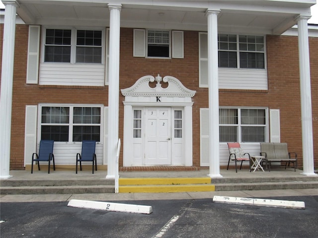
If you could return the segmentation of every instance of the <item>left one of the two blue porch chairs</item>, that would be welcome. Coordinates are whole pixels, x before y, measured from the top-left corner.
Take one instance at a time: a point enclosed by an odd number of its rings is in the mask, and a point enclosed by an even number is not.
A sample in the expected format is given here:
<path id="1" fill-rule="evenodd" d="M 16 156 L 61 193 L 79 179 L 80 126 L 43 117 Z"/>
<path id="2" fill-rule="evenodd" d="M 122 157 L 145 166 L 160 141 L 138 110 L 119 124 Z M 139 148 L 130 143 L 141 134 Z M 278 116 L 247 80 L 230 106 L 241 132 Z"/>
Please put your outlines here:
<path id="1" fill-rule="evenodd" d="M 49 162 L 48 174 L 50 174 L 50 164 L 51 164 L 51 160 L 53 160 L 53 169 L 55 170 L 53 146 L 54 146 L 54 140 L 41 140 L 40 141 L 39 154 L 37 154 L 37 153 L 32 154 L 31 174 L 33 174 L 33 162 L 34 161 L 37 162 L 39 171 L 40 171 L 40 161 Z"/>

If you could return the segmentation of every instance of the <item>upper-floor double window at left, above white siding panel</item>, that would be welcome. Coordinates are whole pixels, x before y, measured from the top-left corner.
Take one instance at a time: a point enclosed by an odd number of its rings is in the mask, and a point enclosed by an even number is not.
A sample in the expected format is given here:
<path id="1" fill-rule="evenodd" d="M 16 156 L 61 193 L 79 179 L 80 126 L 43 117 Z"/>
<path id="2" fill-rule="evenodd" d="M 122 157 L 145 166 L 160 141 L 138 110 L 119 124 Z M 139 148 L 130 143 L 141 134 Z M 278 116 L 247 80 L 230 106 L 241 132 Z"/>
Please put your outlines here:
<path id="1" fill-rule="evenodd" d="M 102 30 L 45 29 L 44 62 L 102 63 Z"/>

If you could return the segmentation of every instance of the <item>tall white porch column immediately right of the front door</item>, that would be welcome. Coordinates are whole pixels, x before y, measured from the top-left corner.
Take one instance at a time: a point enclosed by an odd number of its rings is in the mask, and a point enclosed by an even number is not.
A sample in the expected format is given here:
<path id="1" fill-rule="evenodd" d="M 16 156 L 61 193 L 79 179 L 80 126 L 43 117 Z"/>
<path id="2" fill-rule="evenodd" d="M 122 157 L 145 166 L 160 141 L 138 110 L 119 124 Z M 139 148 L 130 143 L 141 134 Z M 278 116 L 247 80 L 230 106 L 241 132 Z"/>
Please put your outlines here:
<path id="1" fill-rule="evenodd" d="M 210 123 L 210 178 L 220 175 L 219 145 L 219 67 L 218 67 L 218 14 L 207 10 L 208 16 L 208 81 Z"/>

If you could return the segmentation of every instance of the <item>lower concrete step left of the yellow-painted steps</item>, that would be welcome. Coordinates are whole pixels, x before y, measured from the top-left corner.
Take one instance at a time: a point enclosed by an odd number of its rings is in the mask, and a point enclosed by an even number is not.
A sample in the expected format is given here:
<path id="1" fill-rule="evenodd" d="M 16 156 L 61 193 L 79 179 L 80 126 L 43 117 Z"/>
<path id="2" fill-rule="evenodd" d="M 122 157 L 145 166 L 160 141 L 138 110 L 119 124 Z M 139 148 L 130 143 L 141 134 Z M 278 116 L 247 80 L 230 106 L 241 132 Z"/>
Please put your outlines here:
<path id="1" fill-rule="evenodd" d="M 1 194 L 114 193 L 113 185 L 1 186 Z"/>

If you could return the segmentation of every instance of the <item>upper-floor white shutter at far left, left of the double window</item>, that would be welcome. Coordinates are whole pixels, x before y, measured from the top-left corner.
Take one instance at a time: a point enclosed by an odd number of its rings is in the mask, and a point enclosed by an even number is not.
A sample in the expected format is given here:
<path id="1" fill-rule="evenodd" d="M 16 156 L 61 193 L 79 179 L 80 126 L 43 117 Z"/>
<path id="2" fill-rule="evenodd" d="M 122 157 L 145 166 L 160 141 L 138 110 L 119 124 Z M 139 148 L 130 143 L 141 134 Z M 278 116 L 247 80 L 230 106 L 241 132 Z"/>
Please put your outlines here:
<path id="1" fill-rule="evenodd" d="M 38 83 L 40 26 L 29 26 L 26 83 Z"/>

